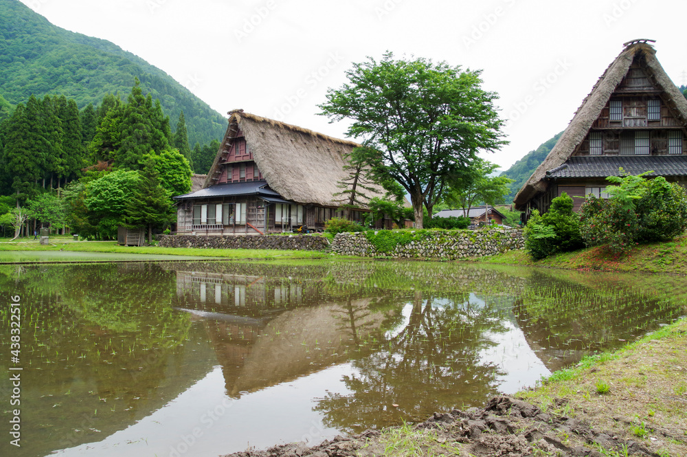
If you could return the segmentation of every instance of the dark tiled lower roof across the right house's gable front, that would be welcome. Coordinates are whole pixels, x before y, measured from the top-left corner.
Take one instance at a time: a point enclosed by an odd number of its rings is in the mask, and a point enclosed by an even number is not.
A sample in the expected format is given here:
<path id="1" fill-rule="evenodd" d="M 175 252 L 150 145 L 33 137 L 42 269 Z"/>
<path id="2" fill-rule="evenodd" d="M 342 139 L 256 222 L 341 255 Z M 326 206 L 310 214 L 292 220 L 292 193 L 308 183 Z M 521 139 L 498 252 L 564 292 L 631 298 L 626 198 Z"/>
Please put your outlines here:
<path id="1" fill-rule="evenodd" d="M 548 170 L 548 178 L 605 178 L 620 176 L 620 168 L 630 175 L 653 170 L 647 176 L 687 176 L 687 156 L 603 156 L 570 157 L 565 164 Z"/>

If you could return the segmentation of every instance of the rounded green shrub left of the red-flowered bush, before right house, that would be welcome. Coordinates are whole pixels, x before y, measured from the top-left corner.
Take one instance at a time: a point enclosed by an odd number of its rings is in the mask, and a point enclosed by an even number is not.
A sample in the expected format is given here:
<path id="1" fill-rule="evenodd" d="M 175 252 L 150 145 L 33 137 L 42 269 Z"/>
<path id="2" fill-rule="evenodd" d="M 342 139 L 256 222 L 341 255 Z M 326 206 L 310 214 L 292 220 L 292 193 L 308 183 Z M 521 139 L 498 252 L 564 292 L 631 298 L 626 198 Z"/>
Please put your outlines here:
<path id="1" fill-rule="evenodd" d="M 543 216 L 534 210 L 523 232 L 525 249 L 532 258 L 540 259 L 583 247 L 580 218 L 572 207 L 572 198 L 563 192 L 561 197 L 551 201 L 550 210 Z"/>

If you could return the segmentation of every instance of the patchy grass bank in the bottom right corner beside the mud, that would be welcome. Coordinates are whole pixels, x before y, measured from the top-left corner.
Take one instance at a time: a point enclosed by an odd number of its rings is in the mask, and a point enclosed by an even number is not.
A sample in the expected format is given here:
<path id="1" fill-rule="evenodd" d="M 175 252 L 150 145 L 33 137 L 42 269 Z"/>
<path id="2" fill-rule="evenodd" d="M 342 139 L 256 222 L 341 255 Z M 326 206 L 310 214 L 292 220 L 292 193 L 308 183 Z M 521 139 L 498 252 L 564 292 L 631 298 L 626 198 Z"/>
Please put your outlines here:
<path id="1" fill-rule="evenodd" d="M 660 456 L 687 455 L 687 320 L 587 357 L 518 397 Z"/>

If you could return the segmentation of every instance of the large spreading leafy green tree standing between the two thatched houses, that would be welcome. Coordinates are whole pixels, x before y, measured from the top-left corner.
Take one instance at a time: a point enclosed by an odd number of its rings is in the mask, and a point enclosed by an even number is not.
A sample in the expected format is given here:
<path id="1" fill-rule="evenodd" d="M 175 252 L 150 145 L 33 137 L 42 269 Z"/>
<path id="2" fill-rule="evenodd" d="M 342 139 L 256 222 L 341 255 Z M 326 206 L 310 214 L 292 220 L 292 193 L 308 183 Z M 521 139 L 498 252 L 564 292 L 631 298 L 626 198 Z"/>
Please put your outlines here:
<path id="1" fill-rule="evenodd" d="M 431 215 L 456 167 L 506 144 L 497 94 L 481 89 L 480 71 L 394 60 L 387 52 L 379 63 L 355 63 L 346 76 L 349 82 L 329 89 L 319 108 L 330 122 L 352 121 L 347 135 L 363 139 L 376 175 L 410 194 L 418 228 L 423 205 Z"/>

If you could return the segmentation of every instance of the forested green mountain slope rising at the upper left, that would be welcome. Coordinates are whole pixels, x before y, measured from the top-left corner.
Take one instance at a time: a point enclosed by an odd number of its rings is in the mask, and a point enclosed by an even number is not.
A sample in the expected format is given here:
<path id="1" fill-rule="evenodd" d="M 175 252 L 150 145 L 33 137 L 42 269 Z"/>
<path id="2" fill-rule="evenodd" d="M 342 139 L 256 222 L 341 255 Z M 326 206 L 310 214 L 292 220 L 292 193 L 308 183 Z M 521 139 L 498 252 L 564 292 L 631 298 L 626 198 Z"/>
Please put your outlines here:
<path id="1" fill-rule="evenodd" d="M 126 96 L 136 76 L 172 125 L 183 110 L 191 145 L 223 137 L 227 120 L 161 69 L 114 43 L 52 25 L 18 0 L 0 0 L 0 119 L 5 103 L 25 103 L 31 94 L 65 95 L 79 109 L 108 92 Z"/>

